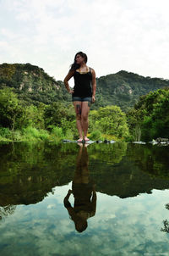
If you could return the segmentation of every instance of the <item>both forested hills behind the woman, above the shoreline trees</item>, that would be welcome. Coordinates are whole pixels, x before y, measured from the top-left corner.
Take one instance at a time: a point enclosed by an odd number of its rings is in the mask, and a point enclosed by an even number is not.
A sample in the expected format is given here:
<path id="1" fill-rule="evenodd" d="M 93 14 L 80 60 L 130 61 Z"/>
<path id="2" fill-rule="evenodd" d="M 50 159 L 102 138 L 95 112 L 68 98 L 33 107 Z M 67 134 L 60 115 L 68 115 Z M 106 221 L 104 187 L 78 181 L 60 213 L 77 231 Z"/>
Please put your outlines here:
<path id="1" fill-rule="evenodd" d="M 126 110 L 133 107 L 141 95 L 169 86 L 168 80 L 144 77 L 124 70 L 101 76 L 96 81 L 93 109 L 117 105 Z M 55 81 L 44 70 L 31 64 L 0 64 L 0 88 L 4 86 L 14 87 L 14 92 L 27 103 L 71 101 L 63 81 Z"/>

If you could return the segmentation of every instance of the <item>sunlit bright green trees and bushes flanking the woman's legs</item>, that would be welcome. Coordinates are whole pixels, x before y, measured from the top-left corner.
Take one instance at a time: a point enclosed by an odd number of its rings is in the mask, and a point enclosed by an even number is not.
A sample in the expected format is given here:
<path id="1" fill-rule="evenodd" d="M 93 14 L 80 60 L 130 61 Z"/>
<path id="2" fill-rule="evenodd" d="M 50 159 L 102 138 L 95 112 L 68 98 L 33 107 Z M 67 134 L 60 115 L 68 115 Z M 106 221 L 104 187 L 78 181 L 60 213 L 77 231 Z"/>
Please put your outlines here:
<path id="1" fill-rule="evenodd" d="M 25 105 L 11 88 L 0 90 L 0 140 L 54 141 L 78 137 L 74 106 L 52 103 Z M 90 112 L 90 139 L 124 139 L 128 136 L 126 115 L 117 106 Z"/>

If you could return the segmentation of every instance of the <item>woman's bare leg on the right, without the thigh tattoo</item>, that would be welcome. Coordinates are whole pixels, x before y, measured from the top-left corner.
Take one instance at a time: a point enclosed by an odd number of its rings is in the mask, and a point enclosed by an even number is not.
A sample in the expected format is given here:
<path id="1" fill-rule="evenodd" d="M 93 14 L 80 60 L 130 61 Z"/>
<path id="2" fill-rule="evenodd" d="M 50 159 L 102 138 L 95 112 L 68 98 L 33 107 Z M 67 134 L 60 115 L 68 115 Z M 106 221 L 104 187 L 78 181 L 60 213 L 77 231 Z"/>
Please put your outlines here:
<path id="1" fill-rule="evenodd" d="M 81 110 L 81 124 L 84 131 L 85 139 L 87 139 L 87 131 L 88 131 L 88 114 L 90 112 L 90 106 L 88 102 L 82 102 L 82 110 Z"/>

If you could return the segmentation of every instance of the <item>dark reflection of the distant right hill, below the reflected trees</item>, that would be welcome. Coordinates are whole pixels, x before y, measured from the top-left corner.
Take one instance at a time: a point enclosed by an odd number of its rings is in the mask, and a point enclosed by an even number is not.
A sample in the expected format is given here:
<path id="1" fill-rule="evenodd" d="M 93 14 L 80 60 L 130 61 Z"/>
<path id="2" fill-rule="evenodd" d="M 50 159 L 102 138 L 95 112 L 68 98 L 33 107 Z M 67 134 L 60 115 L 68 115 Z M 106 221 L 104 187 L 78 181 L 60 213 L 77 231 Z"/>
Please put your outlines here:
<path id="1" fill-rule="evenodd" d="M 100 164 L 102 169 L 104 166 Z M 97 169 L 99 172 L 99 168 Z M 101 170 L 102 172 L 102 170 Z M 139 170 L 134 164 L 125 158 L 120 164 L 106 166 L 106 170 L 100 177 L 94 176 L 97 191 L 119 198 L 137 196 L 139 193 L 150 193 L 152 189 L 169 189 L 169 181 L 152 178 L 149 174 Z"/>

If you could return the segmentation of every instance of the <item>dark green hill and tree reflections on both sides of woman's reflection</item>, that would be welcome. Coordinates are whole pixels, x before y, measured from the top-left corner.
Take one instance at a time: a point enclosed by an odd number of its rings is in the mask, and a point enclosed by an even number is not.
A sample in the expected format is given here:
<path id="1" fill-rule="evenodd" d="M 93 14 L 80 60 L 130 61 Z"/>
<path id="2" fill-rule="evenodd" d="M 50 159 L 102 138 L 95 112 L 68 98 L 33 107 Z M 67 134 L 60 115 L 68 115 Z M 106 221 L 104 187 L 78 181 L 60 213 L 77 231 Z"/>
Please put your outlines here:
<path id="1" fill-rule="evenodd" d="M 55 186 L 72 181 L 79 146 L 8 144 L 0 146 L 0 205 L 37 203 Z M 126 143 L 88 147 L 96 191 L 120 198 L 169 188 L 166 147 Z"/>

